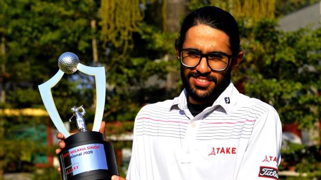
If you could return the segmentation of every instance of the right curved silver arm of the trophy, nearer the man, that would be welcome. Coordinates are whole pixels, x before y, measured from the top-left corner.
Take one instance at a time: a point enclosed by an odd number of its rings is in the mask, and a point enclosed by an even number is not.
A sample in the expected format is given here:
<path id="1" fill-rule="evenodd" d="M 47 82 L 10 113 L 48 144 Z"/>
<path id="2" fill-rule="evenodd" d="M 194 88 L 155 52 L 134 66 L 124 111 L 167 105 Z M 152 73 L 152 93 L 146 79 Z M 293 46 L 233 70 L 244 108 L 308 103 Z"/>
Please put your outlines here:
<path id="1" fill-rule="evenodd" d="M 100 124 L 102 121 L 103 110 L 105 106 L 105 96 L 106 96 L 106 75 L 105 67 L 90 67 L 85 66 L 81 63 L 77 65 L 78 71 L 95 76 L 96 84 L 96 112 L 93 125 L 93 131 L 99 132 Z"/>

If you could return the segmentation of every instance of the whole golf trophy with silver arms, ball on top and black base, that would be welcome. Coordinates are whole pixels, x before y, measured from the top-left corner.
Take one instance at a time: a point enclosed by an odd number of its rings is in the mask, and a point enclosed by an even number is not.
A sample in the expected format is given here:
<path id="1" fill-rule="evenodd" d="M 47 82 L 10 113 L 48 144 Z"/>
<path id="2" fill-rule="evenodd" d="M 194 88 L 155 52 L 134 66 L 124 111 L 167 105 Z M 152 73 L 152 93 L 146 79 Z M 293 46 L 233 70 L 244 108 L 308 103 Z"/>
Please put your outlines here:
<path id="1" fill-rule="evenodd" d="M 58 131 L 66 137 L 66 147 L 59 153 L 59 163 L 63 180 L 111 179 L 118 175 L 116 158 L 112 144 L 104 140 L 98 132 L 102 121 L 105 103 L 105 69 L 89 67 L 79 63 L 79 58 L 72 52 L 61 54 L 58 59 L 59 71 L 48 81 L 40 84 L 39 91 L 44 106 Z M 72 107 L 69 121 L 75 117 L 78 133 L 70 135 L 57 111 L 51 88 L 62 78 L 64 73 L 80 72 L 95 76 L 96 111 L 92 131 L 87 131 L 83 105 Z"/>

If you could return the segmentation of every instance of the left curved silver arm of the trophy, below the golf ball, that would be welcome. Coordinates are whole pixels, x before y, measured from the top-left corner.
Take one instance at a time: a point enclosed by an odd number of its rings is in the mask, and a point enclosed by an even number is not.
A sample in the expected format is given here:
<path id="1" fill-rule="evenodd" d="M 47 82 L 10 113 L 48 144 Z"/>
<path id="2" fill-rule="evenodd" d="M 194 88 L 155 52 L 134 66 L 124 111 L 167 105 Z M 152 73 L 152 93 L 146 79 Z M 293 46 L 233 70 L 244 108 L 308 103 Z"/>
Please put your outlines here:
<path id="1" fill-rule="evenodd" d="M 43 104 L 45 105 L 45 108 L 53 122 L 55 124 L 56 128 L 59 132 L 63 133 L 63 135 L 67 138 L 70 136 L 70 133 L 66 129 L 64 122 L 61 120 L 61 117 L 58 113 L 58 110 L 56 108 L 55 102 L 53 101 L 52 94 L 51 94 L 51 88 L 55 86 L 59 80 L 64 75 L 64 72 L 61 70 L 58 70 L 58 72 L 47 80 L 46 82 L 38 85 L 39 92 L 41 99 L 43 101 Z"/>

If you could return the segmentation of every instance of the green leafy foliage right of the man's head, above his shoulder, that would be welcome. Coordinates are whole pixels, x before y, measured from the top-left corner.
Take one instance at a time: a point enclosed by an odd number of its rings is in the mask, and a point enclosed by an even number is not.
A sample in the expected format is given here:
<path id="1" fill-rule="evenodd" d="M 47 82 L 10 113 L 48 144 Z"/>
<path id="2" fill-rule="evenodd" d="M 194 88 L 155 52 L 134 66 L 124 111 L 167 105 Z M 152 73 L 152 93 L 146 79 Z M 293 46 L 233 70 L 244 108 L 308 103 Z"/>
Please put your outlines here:
<path id="1" fill-rule="evenodd" d="M 273 105 L 282 123 L 313 127 L 320 116 L 320 29 L 284 33 L 276 21 L 262 19 L 241 25 L 241 32 L 251 32 L 242 38 L 246 55 L 238 75 L 246 94 Z"/>

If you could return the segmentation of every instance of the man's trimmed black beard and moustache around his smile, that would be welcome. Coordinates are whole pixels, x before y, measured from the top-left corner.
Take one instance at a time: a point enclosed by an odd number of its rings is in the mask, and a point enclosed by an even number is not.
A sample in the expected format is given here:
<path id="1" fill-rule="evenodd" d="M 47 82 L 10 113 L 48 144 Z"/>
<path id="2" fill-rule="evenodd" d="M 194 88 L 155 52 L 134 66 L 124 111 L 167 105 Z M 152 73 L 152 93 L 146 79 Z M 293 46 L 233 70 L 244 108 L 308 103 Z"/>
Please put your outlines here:
<path id="1" fill-rule="evenodd" d="M 222 73 L 222 78 L 217 79 L 216 76 L 211 76 L 208 74 L 199 74 L 195 72 L 190 72 L 187 75 L 184 74 L 184 70 L 186 68 L 181 65 L 180 67 L 180 76 L 183 82 L 183 85 L 188 92 L 188 96 L 190 96 L 193 100 L 199 101 L 199 102 L 211 102 L 213 103 L 226 89 L 226 87 L 230 84 L 231 81 L 231 68 L 228 67 L 226 70 Z M 191 77 L 206 77 L 209 81 L 213 81 L 215 83 L 215 86 L 212 88 L 202 88 L 198 86 L 192 86 L 190 84 L 189 79 Z M 204 91 L 203 94 L 197 93 L 197 89 L 202 89 Z"/>

